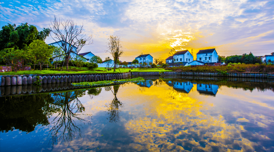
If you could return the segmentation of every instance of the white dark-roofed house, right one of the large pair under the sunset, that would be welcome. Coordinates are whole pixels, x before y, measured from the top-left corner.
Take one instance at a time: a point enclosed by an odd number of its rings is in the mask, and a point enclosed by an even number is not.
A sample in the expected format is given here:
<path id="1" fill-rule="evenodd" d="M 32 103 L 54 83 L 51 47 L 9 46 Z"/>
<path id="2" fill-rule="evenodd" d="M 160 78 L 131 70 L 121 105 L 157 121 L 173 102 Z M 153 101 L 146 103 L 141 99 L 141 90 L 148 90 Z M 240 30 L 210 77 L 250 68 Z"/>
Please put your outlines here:
<path id="1" fill-rule="evenodd" d="M 215 48 L 207 50 L 199 50 L 197 53 L 197 61 L 202 62 L 218 62 L 219 55 L 217 54 Z"/>

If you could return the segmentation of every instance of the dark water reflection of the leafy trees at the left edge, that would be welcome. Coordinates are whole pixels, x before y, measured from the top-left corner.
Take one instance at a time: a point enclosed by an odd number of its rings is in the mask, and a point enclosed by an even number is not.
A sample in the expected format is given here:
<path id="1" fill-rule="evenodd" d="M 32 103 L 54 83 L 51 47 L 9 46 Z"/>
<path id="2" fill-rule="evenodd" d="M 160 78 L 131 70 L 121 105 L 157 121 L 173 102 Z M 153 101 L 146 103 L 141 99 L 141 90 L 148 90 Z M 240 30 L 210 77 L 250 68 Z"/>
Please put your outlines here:
<path id="1" fill-rule="evenodd" d="M 0 131 L 14 129 L 30 133 L 37 125 L 49 125 L 48 118 L 58 111 L 51 94 L 0 97 Z"/>

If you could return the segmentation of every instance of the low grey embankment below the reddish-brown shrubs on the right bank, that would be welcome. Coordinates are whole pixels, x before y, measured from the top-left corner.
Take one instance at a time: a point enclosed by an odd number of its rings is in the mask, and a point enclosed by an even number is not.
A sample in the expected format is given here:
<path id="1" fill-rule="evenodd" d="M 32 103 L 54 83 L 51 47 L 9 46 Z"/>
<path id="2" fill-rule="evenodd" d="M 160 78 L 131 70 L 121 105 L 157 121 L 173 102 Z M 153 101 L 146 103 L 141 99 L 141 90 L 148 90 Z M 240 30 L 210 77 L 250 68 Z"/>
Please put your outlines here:
<path id="1" fill-rule="evenodd" d="M 220 72 L 164 72 L 165 75 L 268 78 L 267 73 L 220 73 Z"/>

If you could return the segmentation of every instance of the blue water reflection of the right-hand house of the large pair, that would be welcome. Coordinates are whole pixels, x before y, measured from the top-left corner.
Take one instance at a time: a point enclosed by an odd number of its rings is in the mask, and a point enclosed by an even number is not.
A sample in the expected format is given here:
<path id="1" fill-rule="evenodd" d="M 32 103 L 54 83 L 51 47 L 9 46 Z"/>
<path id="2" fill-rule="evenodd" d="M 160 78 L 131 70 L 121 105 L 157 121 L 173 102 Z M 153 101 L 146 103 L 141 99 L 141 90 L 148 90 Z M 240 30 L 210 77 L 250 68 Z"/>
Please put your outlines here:
<path id="1" fill-rule="evenodd" d="M 218 88 L 219 86 L 215 84 L 197 84 L 197 91 L 202 95 L 215 96 Z"/>

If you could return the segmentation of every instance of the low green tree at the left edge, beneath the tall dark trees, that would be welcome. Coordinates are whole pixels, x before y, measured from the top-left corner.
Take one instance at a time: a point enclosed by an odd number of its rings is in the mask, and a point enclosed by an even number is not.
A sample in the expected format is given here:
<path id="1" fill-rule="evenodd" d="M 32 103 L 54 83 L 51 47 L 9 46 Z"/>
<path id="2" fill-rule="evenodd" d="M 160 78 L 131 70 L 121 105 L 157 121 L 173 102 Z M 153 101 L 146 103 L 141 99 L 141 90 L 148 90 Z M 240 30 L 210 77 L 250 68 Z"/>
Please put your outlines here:
<path id="1" fill-rule="evenodd" d="M 27 50 L 6 48 L 0 51 L 0 60 L 11 65 L 12 69 L 17 72 L 24 65 L 30 63 L 32 54 Z"/>

